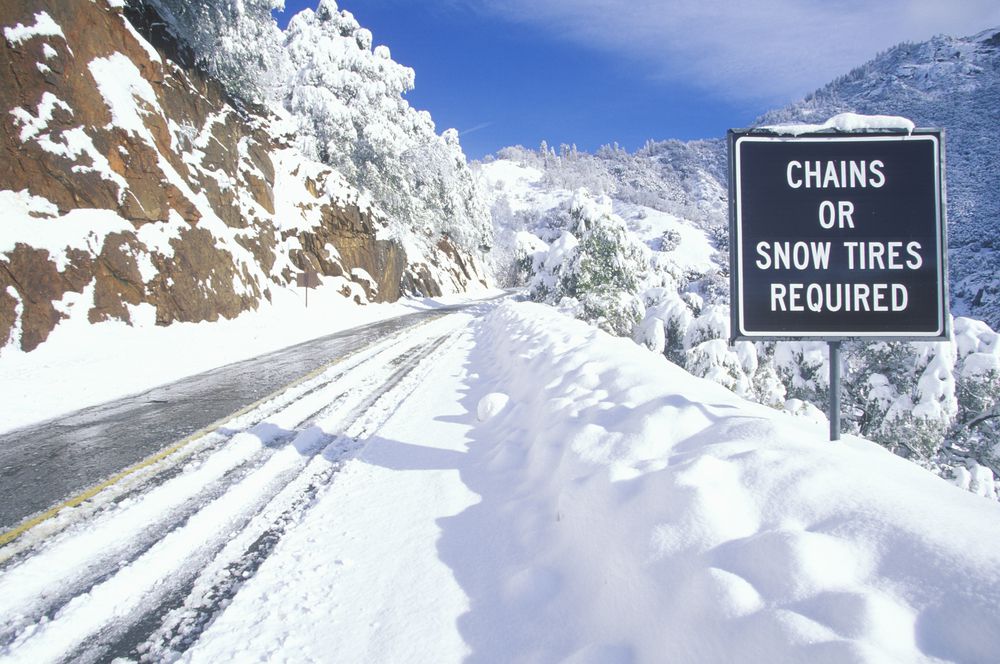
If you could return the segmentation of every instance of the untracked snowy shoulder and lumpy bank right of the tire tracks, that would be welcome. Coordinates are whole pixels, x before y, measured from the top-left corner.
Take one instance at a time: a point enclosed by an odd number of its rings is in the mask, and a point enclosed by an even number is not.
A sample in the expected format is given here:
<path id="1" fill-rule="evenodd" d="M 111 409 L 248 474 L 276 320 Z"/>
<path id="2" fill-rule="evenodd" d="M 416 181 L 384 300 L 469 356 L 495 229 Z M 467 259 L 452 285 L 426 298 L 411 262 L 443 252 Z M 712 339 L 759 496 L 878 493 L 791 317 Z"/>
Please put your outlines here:
<path id="1" fill-rule="evenodd" d="M 183 661 L 994 659 L 996 503 L 543 305 L 432 364 Z"/>

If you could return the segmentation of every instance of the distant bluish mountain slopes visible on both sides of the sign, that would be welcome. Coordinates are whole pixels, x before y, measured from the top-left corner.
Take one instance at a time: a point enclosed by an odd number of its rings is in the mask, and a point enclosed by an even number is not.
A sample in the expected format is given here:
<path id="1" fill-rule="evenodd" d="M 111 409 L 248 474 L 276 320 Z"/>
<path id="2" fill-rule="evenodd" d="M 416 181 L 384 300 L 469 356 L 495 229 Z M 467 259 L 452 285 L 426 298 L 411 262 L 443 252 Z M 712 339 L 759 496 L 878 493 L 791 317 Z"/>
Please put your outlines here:
<path id="1" fill-rule="evenodd" d="M 946 131 L 951 299 L 956 315 L 1000 327 L 1000 39 L 997 29 L 966 38 L 902 44 L 754 124 L 821 123 L 842 112 L 904 116 Z M 667 129 L 669 131 L 669 128 Z M 721 139 L 650 141 L 635 153 L 606 146 L 594 155 L 543 145 L 505 148 L 498 160 L 540 169 L 541 186 L 587 187 L 645 205 L 716 233 L 728 220 L 726 146 Z M 722 257 L 723 261 L 727 257 Z"/>

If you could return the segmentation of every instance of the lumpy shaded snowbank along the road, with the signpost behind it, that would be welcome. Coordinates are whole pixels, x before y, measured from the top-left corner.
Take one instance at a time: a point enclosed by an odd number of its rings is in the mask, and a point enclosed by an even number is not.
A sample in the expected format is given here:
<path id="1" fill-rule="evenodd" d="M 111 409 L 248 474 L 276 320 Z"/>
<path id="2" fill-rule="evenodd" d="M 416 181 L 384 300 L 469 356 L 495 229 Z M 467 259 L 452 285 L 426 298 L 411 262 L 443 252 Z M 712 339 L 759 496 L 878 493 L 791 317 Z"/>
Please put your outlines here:
<path id="1" fill-rule="evenodd" d="M 497 367 L 485 388 L 510 395 L 470 446 L 488 460 L 470 511 L 503 543 L 483 570 L 503 659 L 1000 651 L 997 504 L 542 305 L 500 306 L 479 347 Z M 472 641 L 500 627 L 472 609 Z"/>

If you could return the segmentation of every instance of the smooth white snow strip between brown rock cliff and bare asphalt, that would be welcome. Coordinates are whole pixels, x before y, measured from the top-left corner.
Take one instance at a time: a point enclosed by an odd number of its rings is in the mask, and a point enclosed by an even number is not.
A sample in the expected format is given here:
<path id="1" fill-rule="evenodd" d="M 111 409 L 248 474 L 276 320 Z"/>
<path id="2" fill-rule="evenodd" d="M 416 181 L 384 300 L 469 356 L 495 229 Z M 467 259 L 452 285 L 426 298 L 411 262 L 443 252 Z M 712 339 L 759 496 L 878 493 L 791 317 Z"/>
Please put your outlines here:
<path id="1" fill-rule="evenodd" d="M 151 320 L 92 325 L 87 307 L 72 307 L 49 339 L 30 353 L 0 350 L 0 433 L 257 357 L 347 328 L 447 304 L 496 295 L 400 300 L 357 306 L 334 288 L 274 288 L 273 302 L 215 323 Z"/>

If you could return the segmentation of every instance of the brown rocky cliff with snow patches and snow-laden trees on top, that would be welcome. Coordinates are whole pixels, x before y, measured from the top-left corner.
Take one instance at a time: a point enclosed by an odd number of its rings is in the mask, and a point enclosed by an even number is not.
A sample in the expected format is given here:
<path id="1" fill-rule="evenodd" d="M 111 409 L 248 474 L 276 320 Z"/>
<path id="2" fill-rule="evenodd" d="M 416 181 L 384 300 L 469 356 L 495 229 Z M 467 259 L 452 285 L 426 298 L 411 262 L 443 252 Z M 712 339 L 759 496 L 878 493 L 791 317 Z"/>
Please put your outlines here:
<path id="1" fill-rule="evenodd" d="M 332 0 L 287 34 L 273 6 L 3 4 L 4 353 L 81 312 L 232 319 L 302 271 L 358 304 L 488 284 L 486 209 L 454 132 L 402 99 L 412 70 Z"/>

